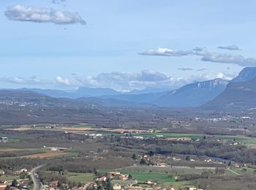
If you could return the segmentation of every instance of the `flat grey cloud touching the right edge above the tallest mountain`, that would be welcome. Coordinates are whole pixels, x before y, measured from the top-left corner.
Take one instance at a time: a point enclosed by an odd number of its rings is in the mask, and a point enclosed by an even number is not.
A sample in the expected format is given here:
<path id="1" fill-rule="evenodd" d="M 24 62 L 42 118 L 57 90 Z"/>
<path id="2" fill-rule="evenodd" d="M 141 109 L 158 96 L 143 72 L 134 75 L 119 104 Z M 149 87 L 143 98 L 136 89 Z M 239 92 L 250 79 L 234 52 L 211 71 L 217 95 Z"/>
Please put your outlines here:
<path id="1" fill-rule="evenodd" d="M 240 66 L 256 66 L 255 58 L 244 58 L 244 56 L 233 56 L 229 54 L 211 53 L 201 58 L 202 61 L 237 64 Z"/>

